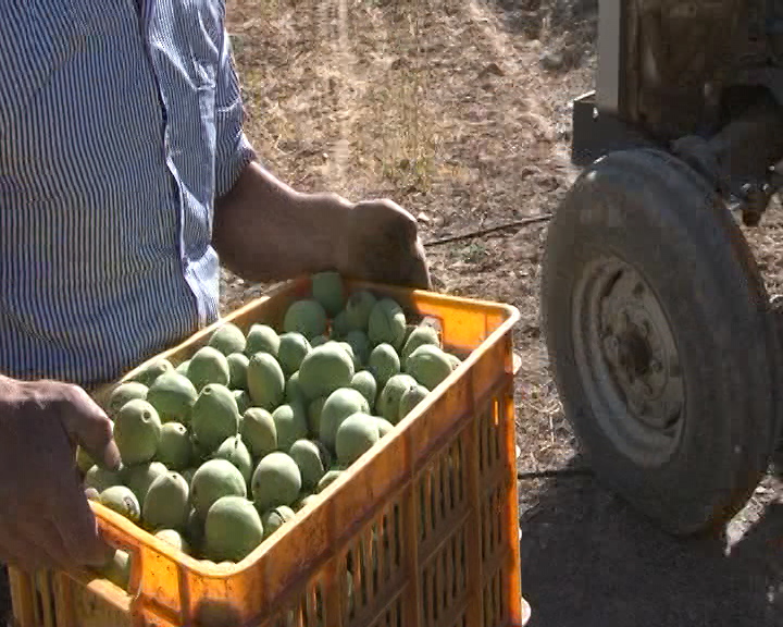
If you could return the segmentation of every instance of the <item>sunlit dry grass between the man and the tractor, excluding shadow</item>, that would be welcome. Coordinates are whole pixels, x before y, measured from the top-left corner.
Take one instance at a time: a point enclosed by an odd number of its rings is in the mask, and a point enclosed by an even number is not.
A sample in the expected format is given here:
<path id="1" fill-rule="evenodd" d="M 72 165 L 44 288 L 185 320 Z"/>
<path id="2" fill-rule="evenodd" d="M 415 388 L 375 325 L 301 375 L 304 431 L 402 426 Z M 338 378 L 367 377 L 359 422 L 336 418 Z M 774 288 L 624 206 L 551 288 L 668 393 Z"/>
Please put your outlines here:
<path id="1" fill-rule="evenodd" d="M 390 197 L 428 241 L 548 211 L 574 175 L 568 103 L 588 88 L 591 67 L 539 69 L 545 44 L 564 46 L 551 21 L 540 21 L 543 44 L 514 28 L 513 11 L 481 0 L 233 0 L 227 11 L 247 131 L 295 187 Z M 437 290 L 522 312 L 527 470 L 572 455 L 538 330 L 545 232 L 538 224 L 430 250 Z M 224 309 L 264 288 L 228 274 L 225 285 Z"/>

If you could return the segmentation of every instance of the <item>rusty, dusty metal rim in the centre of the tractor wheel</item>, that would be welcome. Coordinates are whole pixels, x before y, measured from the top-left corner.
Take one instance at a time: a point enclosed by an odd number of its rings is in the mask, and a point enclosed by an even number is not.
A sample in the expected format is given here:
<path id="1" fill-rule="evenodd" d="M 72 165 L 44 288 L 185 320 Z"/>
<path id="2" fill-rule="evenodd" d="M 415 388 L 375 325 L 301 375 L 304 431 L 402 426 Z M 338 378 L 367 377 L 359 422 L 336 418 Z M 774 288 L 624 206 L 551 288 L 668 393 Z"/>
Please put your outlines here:
<path id="1" fill-rule="evenodd" d="M 680 441 L 685 390 L 655 293 L 617 258 L 589 263 L 573 308 L 574 357 L 606 435 L 637 465 L 660 466 Z"/>

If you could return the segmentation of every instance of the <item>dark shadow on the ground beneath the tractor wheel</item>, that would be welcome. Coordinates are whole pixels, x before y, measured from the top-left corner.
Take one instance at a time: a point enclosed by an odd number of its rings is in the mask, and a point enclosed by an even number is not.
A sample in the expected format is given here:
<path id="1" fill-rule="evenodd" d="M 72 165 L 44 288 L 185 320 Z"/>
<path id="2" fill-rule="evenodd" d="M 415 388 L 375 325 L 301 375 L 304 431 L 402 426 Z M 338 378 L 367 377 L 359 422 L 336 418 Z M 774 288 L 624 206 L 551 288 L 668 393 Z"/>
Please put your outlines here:
<path id="1" fill-rule="evenodd" d="M 726 554 L 660 532 L 589 476 L 547 480 L 521 512 L 529 625 L 783 626 L 783 503 L 757 513 Z"/>

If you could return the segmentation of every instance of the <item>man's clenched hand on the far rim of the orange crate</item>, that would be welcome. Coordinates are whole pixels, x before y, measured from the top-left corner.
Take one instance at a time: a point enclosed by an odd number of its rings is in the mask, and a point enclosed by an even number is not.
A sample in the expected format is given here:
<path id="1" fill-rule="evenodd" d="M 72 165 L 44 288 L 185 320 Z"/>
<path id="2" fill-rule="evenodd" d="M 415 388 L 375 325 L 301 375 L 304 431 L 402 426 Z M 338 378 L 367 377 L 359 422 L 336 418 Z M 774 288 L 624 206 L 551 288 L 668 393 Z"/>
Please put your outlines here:
<path id="1" fill-rule="evenodd" d="M 335 253 L 337 269 L 346 276 L 432 288 L 417 221 L 391 200 L 355 204 Z"/>

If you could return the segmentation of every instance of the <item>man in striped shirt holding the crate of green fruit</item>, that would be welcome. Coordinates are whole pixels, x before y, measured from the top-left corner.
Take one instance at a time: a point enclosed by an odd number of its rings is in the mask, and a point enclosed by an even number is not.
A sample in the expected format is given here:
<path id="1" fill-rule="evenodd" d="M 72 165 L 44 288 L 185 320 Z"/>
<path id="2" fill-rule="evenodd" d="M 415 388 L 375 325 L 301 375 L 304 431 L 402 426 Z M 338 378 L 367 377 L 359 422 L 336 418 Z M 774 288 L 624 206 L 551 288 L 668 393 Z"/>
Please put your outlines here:
<path id="1" fill-rule="evenodd" d="M 222 0 L 25 0 L 0 21 L 0 562 L 103 560 L 74 467 L 120 462 L 86 390 L 323 269 L 430 286 L 390 201 L 297 193 L 243 133 Z"/>

